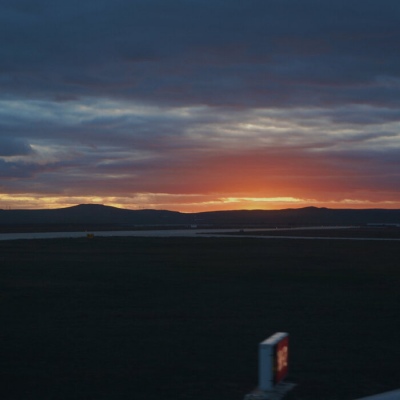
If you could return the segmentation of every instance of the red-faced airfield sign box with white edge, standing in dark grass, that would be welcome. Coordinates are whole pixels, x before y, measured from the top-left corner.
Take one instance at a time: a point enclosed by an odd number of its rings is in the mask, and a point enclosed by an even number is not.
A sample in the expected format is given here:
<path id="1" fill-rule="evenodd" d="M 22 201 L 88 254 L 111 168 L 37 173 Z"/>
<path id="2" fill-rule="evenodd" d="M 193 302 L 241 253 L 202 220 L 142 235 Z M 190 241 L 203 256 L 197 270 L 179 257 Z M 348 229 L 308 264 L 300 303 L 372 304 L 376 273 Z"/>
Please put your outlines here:
<path id="1" fill-rule="evenodd" d="M 259 346 L 259 389 L 269 391 L 288 373 L 289 335 L 278 332 Z"/>

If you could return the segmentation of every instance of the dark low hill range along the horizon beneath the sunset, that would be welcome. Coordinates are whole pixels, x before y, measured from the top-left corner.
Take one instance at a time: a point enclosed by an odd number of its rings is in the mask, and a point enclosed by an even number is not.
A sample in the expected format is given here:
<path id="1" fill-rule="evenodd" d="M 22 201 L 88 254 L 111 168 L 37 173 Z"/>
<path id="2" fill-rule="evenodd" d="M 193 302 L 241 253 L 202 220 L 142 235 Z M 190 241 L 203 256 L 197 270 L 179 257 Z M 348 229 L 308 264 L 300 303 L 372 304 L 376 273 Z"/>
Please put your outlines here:
<path id="1" fill-rule="evenodd" d="M 184 214 L 167 210 L 126 210 L 81 204 L 51 210 L 0 210 L 0 227 L 22 226 L 62 229 L 128 229 L 175 226 L 315 226 L 400 224 L 400 210 L 329 209 L 306 207 L 284 210 L 212 211 Z M 69 227 L 69 228 L 68 228 Z"/>

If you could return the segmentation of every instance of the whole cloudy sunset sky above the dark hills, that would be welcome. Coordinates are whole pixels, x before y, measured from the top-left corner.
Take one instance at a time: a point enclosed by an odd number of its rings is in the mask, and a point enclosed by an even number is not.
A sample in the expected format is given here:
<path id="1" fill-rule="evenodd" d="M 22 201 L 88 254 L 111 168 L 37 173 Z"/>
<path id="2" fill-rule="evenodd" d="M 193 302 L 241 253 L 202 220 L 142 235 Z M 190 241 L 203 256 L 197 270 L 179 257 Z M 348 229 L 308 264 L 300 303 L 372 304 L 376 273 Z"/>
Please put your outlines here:
<path id="1" fill-rule="evenodd" d="M 398 0 L 2 0 L 0 209 L 400 208 Z"/>

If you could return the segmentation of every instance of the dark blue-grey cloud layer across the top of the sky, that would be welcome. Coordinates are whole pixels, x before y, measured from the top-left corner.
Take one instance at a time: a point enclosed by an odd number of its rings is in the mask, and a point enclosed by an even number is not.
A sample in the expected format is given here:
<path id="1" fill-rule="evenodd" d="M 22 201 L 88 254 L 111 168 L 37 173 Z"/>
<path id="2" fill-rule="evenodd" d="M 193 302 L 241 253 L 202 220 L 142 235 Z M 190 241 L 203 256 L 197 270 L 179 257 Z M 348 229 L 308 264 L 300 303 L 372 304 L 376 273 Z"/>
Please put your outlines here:
<path id="1" fill-rule="evenodd" d="M 397 1 L 3 1 L 2 93 L 398 105 Z"/>

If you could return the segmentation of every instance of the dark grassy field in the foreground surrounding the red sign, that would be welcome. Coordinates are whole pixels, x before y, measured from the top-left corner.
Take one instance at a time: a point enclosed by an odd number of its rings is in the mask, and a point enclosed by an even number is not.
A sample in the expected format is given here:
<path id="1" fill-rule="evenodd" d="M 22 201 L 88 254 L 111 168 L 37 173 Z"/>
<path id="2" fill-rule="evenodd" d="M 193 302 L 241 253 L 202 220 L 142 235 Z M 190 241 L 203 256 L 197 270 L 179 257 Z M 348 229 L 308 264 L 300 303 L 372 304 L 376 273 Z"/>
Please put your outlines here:
<path id="1" fill-rule="evenodd" d="M 234 400 L 290 334 L 292 399 L 400 387 L 398 242 L 0 242 L 2 400 Z"/>

